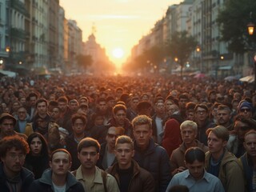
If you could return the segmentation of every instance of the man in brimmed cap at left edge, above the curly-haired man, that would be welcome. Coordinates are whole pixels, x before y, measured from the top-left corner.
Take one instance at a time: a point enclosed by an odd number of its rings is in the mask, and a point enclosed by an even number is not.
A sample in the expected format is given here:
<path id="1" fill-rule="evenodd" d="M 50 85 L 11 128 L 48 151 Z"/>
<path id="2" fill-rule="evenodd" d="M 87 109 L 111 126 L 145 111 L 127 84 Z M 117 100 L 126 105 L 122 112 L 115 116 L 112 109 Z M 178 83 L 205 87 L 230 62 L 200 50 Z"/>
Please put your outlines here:
<path id="1" fill-rule="evenodd" d="M 14 131 L 14 126 L 16 124 L 16 119 L 10 115 L 3 113 L 0 116 L 0 140 L 5 138 L 6 136 L 11 136 L 14 134 L 18 134 L 22 138 L 27 138 L 26 134 L 20 134 Z"/>

